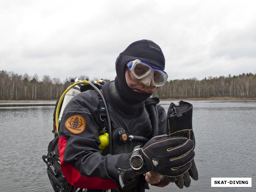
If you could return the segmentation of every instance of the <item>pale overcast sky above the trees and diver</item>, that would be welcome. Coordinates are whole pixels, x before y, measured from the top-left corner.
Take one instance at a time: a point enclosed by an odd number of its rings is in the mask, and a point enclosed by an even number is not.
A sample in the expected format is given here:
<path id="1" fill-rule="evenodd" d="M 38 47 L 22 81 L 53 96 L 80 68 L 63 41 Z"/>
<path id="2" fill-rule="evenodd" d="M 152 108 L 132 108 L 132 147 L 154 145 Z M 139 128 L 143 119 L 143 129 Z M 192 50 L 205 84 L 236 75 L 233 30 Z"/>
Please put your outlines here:
<path id="1" fill-rule="evenodd" d="M 0 70 L 114 80 L 129 44 L 164 52 L 169 80 L 256 73 L 254 0 L 1 0 Z"/>

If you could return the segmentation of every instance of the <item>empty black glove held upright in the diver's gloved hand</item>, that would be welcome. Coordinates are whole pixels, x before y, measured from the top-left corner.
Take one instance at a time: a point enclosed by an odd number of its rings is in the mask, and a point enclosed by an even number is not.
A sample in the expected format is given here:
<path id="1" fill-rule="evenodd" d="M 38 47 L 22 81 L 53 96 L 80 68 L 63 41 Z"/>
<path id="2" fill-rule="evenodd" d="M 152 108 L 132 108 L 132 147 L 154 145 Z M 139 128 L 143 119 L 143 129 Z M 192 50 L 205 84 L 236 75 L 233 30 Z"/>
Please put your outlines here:
<path id="1" fill-rule="evenodd" d="M 178 106 L 171 103 L 167 112 L 167 124 L 170 136 L 191 139 L 194 142 L 195 148 L 195 136 L 192 129 L 192 111 L 193 106 L 188 102 L 180 101 Z M 198 180 L 198 172 L 194 159 L 191 161 L 191 167 L 188 172 L 176 177 L 176 180 L 172 178 L 171 181 L 174 181 L 179 188 L 183 188 L 183 186 L 189 187 L 191 182 L 189 176 L 194 180 Z"/>

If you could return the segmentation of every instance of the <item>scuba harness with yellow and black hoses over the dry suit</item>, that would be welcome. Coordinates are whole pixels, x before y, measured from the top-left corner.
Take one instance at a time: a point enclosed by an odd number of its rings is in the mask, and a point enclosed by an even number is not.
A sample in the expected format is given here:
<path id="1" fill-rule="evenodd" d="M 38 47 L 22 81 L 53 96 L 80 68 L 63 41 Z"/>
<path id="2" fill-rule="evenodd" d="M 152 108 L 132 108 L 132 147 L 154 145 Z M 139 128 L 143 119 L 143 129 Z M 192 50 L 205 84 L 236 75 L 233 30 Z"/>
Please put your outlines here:
<path id="1" fill-rule="evenodd" d="M 71 80 L 72 81 L 72 80 Z M 69 90 L 79 89 L 80 92 L 84 92 L 87 90 L 93 90 L 97 96 L 99 97 L 100 105 L 98 108 L 99 111 L 99 119 L 101 124 L 101 129 L 99 130 L 99 137 L 101 144 L 99 145 L 100 152 L 102 152 L 108 146 L 108 154 L 112 154 L 112 141 L 111 141 L 111 124 L 110 124 L 110 116 L 108 113 L 107 104 L 103 95 L 103 92 L 100 90 L 102 84 L 92 83 L 89 81 L 80 81 L 76 79 L 76 83 L 69 86 L 68 89 L 62 94 L 60 100 L 56 102 L 55 110 L 54 110 L 54 117 L 53 117 L 53 131 L 54 132 L 54 139 L 50 141 L 48 145 L 48 154 L 47 156 L 43 155 L 42 158 L 47 165 L 47 174 L 49 180 L 52 184 L 52 188 L 54 191 L 60 192 L 78 192 L 78 191 L 86 191 L 86 189 L 76 188 L 68 183 L 63 175 L 61 168 L 60 168 L 60 156 L 59 156 L 59 115 L 60 115 L 60 108 L 64 108 L 63 99 L 65 95 L 68 93 Z M 74 80 L 72 81 L 74 82 Z M 84 85 L 81 85 L 84 84 Z M 76 85 L 80 85 L 80 88 L 75 87 Z M 156 104 L 159 103 L 158 98 L 148 98 L 145 101 L 145 107 L 149 113 L 150 121 L 152 124 L 152 136 L 158 135 L 158 114 L 157 114 L 157 107 Z M 67 103 L 66 103 L 67 104 Z M 143 142 L 147 142 L 148 138 L 136 135 L 129 135 L 129 133 L 124 130 L 120 129 L 116 132 L 116 142 L 120 145 L 126 143 L 128 140 L 140 140 Z M 110 138 L 110 139 L 108 139 Z"/>

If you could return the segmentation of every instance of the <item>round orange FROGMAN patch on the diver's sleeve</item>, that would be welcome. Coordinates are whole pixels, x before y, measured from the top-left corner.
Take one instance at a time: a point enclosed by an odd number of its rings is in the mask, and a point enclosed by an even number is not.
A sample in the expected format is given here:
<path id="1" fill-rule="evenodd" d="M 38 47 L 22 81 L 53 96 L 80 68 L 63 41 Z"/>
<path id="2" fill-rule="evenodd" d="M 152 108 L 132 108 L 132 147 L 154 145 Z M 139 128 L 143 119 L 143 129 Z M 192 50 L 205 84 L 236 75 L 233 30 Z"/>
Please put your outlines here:
<path id="1" fill-rule="evenodd" d="M 84 117 L 80 115 L 73 115 L 67 119 L 65 126 L 71 133 L 79 134 L 84 131 L 86 121 Z"/>

